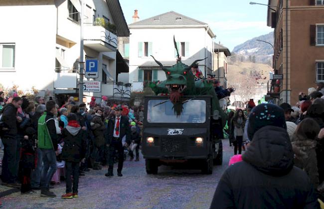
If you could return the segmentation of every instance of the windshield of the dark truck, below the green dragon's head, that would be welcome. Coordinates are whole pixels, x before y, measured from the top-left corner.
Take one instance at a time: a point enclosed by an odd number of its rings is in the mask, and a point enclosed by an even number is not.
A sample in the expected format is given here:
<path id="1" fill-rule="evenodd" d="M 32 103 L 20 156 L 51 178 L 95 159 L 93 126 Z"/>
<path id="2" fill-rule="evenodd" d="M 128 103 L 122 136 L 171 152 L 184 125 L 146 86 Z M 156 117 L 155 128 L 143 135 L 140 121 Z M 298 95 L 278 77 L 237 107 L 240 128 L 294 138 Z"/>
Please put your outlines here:
<path id="1" fill-rule="evenodd" d="M 148 102 L 147 121 L 149 123 L 204 123 L 206 121 L 206 101 L 187 100 L 183 111 L 177 116 L 169 100 L 150 100 Z"/>

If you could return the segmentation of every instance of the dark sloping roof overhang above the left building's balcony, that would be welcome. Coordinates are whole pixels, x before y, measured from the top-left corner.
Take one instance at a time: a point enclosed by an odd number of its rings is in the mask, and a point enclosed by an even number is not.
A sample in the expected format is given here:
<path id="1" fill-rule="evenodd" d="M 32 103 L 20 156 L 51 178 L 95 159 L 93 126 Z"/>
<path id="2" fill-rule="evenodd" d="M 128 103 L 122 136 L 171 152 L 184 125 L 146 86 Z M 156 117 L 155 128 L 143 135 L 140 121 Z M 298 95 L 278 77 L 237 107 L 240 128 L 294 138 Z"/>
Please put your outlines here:
<path id="1" fill-rule="evenodd" d="M 106 0 L 109 10 L 113 16 L 114 23 L 117 27 L 118 36 L 130 36 L 130 30 L 123 13 L 119 0 Z"/>

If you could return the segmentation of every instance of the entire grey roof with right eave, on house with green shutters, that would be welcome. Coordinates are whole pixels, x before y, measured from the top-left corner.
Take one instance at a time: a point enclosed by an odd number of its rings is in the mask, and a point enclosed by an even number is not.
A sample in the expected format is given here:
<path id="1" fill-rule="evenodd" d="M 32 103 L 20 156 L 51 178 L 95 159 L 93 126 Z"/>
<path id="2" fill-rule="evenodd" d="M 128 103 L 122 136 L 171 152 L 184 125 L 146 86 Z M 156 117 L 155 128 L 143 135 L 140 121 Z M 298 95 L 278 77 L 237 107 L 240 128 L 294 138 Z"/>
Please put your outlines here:
<path id="1" fill-rule="evenodd" d="M 168 11 L 141 21 L 137 21 L 128 25 L 129 28 L 167 28 L 167 27 L 187 27 L 187 28 L 201 28 L 208 29 L 208 34 L 214 37 L 215 34 L 208 27 L 208 24 L 175 11 Z"/>

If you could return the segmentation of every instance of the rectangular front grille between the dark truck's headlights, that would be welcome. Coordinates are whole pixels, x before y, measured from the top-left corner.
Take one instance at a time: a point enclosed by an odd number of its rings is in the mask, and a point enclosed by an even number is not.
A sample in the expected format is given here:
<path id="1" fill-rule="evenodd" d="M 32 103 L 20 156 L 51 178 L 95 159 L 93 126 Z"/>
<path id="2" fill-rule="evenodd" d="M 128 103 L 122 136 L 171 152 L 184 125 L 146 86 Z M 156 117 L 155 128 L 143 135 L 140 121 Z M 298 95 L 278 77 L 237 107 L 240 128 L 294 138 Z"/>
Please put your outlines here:
<path id="1" fill-rule="evenodd" d="M 161 140 L 161 151 L 163 153 L 178 153 L 187 151 L 187 140 L 181 138 L 163 138 Z"/>

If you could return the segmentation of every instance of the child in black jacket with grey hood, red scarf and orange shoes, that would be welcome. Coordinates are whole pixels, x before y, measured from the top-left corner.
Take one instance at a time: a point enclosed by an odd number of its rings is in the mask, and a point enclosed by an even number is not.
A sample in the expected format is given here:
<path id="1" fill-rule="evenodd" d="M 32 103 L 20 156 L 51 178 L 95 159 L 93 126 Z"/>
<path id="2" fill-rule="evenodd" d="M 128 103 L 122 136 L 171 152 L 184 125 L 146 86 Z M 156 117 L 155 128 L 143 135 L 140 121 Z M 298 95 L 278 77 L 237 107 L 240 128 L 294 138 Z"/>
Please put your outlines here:
<path id="1" fill-rule="evenodd" d="M 66 194 L 63 199 L 78 198 L 79 165 L 86 153 L 86 132 L 81 129 L 77 122 L 77 116 L 70 113 L 67 116 L 68 124 L 63 129 L 64 145 L 62 159 L 65 161 Z M 73 177 L 73 193 L 72 178 Z"/>

